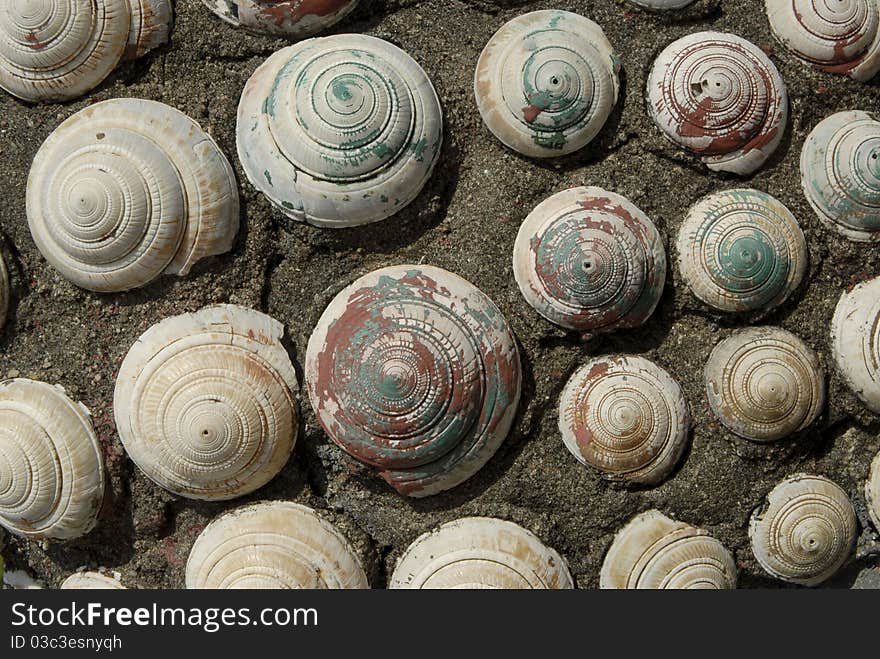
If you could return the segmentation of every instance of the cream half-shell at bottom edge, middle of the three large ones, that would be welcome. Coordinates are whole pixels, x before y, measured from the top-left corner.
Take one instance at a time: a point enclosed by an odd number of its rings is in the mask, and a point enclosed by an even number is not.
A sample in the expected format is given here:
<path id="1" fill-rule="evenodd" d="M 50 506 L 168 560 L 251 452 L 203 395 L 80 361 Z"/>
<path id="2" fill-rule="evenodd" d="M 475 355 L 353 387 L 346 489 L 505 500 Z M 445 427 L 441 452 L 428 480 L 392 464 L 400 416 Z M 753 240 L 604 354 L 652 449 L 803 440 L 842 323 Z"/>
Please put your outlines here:
<path id="1" fill-rule="evenodd" d="M 574 582 L 565 560 L 530 531 L 465 517 L 417 538 L 398 559 L 388 587 L 568 589 Z"/>

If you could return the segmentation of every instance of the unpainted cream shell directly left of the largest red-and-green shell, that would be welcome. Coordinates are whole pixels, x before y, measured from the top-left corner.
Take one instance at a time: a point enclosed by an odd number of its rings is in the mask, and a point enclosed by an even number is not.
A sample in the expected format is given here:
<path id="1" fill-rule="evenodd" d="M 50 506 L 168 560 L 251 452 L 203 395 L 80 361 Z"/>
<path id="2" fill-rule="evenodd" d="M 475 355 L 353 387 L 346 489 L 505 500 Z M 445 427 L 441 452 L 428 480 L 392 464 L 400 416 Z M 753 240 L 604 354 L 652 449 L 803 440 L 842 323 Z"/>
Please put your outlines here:
<path id="1" fill-rule="evenodd" d="M 119 437 L 167 490 L 223 500 L 268 483 L 290 457 L 298 414 L 284 327 L 233 305 L 166 318 L 132 346 L 116 380 Z"/>

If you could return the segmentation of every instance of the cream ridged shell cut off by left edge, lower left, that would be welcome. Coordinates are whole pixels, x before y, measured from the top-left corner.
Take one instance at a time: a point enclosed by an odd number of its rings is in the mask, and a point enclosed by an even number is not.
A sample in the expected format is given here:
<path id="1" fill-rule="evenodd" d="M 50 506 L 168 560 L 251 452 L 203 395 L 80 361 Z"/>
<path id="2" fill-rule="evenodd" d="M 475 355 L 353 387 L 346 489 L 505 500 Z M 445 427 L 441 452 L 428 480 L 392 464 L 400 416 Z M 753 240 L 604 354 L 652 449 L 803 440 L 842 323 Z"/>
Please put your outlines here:
<path id="1" fill-rule="evenodd" d="M 104 461 L 89 411 L 59 386 L 0 382 L 0 524 L 67 540 L 95 526 Z"/>

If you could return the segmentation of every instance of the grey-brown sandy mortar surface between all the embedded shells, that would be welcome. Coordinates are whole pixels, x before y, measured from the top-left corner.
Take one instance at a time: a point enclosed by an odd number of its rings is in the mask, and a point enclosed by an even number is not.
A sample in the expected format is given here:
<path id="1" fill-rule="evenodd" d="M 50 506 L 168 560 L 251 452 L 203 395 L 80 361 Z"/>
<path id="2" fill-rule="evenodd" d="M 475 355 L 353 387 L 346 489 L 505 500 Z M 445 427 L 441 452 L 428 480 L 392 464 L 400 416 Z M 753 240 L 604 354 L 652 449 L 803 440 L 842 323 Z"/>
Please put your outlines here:
<path id="1" fill-rule="evenodd" d="M 465 515 L 498 516 L 537 533 L 569 561 L 581 587 L 597 585 L 615 530 L 657 507 L 705 527 L 735 553 L 744 586 L 772 585 L 751 555 L 746 527 L 752 509 L 782 477 L 825 474 L 864 512 L 863 482 L 880 449 L 880 420 L 846 390 L 829 363 L 828 326 L 845 288 L 880 274 L 880 250 L 838 239 L 810 211 L 800 191 L 798 156 L 808 131 L 841 109 L 876 109 L 878 83 L 858 84 L 814 72 L 774 42 L 762 0 L 700 0 L 688 13 L 660 17 L 616 0 L 478 2 L 364 0 L 339 31 L 365 32 L 401 46 L 430 74 L 446 112 L 438 170 L 412 207 L 384 225 L 331 232 L 293 225 L 245 182 L 235 158 L 235 111 L 257 65 L 284 42 L 248 36 L 216 20 L 197 0 L 178 0 L 172 43 L 120 68 L 88 98 L 30 107 L 0 95 L 0 249 L 15 285 L 14 312 L 0 338 L 0 376 L 63 384 L 94 414 L 110 473 L 98 528 L 78 541 L 40 545 L 10 539 L 10 567 L 48 585 L 80 566 L 122 572 L 129 585 L 181 587 L 195 535 L 213 517 L 250 500 L 289 498 L 323 509 L 364 552 L 381 587 L 400 552 L 417 535 Z M 492 33 L 517 13 L 561 8 L 602 25 L 623 60 L 626 84 L 618 112 L 594 145 L 558 162 L 534 162 L 505 150 L 483 127 L 472 95 L 477 57 Z M 746 184 L 776 195 L 801 221 L 810 246 L 807 283 L 763 318 L 718 318 L 688 294 L 678 274 L 643 330 L 584 342 L 554 329 L 523 301 L 511 271 L 517 229 L 546 196 L 573 185 L 599 185 L 625 195 L 652 217 L 668 244 L 690 204 L 743 181 L 708 173 L 667 145 L 644 103 L 647 71 L 667 43 L 686 33 L 735 32 L 767 50 L 792 98 L 792 119 L 779 154 Z M 199 121 L 235 163 L 244 230 L 231 254 L 200 265 L 183 280 L 145 290 L 96 295 L 76 289 L 47 266 L 28 233 L 25 184 L 30 162 L 60 121 L 85 105 L 117 96 L 151 98 Z M 268 486 L 244 500 L 202 504 L 152 485 L 125 457 L 112 421 L 113 381 L 129 345 L 159 319 L 215 302 L 261 309 L 283 321 L 301 363 L 311 328 L 328 300 L 357 275 L 392 263 L 448 268 L 477 284 L 507 315 L 525 368 L 516 430 L 495 458 L 457 490 L 409 501 L 369 477 L 353 476 L 328 443 L 304 401 L 304 427 L 294 457 Z M 766 322 L 800 336 L 822 356 L 830 404 L 804 436 L 772 446 L 736 439 L 709 413 L 702 367 L 711 348 L 735 327 Z M 556 430 L 556 400 L 567 376 L 590 355 L 644 354 L 682 383 L 696 420 L 693 446 L 676 475 L 660 487 L 627 491 L 580 467 Z M 864 515 L 862 515 L 864 518 Z M 864 530 L 861 556 L 875 546 Z M 877 584 L 876 563 L 856 561 L 837 585 Z M 867 568 L 857 579 L 859 570 Z M 873 578 L 873 582 L 871 582 Z"/>

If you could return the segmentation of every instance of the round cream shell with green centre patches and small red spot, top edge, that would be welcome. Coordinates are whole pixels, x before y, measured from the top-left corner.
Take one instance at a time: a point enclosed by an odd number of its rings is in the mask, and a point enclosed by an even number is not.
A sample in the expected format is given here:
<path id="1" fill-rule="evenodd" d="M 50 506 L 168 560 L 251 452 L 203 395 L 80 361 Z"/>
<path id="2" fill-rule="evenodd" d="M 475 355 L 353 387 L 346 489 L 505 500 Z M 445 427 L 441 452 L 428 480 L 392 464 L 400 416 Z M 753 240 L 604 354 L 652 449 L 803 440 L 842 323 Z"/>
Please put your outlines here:
<path id="1" fill-rule="evenodd" d="M 596 23 L 535 11 L 486 44 L 474 92 L 490 131 L 511 149 L 551 158 L 586 146 L 617 104 L 620 60 Z"/>

